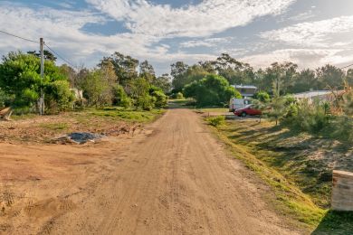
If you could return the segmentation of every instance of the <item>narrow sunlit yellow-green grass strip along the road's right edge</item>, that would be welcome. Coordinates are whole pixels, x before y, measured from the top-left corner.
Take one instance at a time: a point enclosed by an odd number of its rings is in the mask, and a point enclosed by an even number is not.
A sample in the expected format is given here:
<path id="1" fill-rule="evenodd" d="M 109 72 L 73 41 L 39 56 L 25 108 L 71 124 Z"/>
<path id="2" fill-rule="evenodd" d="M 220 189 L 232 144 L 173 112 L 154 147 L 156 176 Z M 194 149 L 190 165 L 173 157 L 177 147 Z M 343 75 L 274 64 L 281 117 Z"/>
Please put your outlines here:
<path id="1" fill-rule="evenodd" d="M 224 127 L 226 128 L 226 127 Z M 326 210 L 321 209 L 311 201 L 310 196 L 302 193 L 301 190 L 291 181 L 286 179 L 281 173 L 264 164 L 253 155 L 248 146 L 237 144 L 224 135 L 222 128 L 214 128 L 217 136 L 229 146 L 233 155 L 253 172 L 258 174 L 262 180 L 270 185 L 275 199 L 272 203 L 284 216 L 290 215 L 291 221 L 299 221 L 301 227 L 308 230 L 314 229 L 324 217 Z"/>

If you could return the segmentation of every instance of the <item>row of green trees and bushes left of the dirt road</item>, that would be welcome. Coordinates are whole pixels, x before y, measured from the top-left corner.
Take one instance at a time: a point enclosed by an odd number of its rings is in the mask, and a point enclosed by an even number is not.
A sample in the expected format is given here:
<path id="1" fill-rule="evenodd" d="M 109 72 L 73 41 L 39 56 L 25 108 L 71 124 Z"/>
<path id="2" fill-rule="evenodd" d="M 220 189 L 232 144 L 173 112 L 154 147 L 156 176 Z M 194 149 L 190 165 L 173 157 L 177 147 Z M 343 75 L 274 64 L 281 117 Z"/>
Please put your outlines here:
<path id="1" fill-rule="evenodd" d="M 36 112 L 41 92 L 46 112 L 72 109 L 73 105 L 117 105 L 145 110 L 167 105 L 171 88 L 168 75 L 157 76 L 148 61 L 119 52 L 102 58 L 93 69 L 74 70 L 56 65 L 56 57 L 44 52 L 44 77 L 40 76 L 38 52 L 9 52 L 0 63 L 0 108 Z M 82 90 L 83 99 L 74 89 Z"/>

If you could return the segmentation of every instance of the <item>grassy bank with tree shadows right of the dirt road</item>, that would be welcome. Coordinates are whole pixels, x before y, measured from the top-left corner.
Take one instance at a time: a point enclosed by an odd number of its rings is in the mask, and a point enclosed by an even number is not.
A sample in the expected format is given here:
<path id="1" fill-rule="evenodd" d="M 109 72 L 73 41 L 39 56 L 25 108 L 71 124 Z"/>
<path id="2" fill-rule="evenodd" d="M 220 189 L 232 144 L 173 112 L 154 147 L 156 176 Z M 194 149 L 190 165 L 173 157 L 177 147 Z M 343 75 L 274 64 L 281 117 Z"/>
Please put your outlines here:
<path id="1" fill-rule="evenodd" d="M 352 171 L 351 146 L 262 120 L 214 127 L 234 156 L 270 185 L 280 213 L 313 234 L 351 234 L 353 213 L 329 211 L 332 165 Z M 272 198 L 270 196 L 270 198 Z"/>

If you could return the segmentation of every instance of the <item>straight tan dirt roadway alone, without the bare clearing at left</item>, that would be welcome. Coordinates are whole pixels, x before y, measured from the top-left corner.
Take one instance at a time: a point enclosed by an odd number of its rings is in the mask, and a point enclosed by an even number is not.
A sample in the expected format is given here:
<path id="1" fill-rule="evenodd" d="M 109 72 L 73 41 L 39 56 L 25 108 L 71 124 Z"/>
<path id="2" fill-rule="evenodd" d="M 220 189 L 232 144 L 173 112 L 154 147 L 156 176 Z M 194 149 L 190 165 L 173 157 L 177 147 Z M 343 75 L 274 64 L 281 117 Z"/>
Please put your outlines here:
<path id="1" fill-rule="evenodd" d="M 171 109 L 52 223 L 57 234 L 296 234 L 201 119 Z M 260 186 L 259 186 L 260 185 Z M 79 200 L 76 200 L 79 201 Z"/>

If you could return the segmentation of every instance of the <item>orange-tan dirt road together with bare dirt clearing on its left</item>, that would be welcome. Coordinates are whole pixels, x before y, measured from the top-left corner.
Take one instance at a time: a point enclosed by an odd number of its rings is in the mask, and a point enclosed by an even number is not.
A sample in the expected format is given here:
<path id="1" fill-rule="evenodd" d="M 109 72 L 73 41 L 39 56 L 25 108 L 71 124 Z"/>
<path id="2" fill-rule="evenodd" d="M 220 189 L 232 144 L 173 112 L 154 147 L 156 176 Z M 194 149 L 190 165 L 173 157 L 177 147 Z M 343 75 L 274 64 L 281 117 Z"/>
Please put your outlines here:
<path id="1" fill-rule="evenodd" d="M 7 181 L 14 198 L 31 190 L 14 202 L 24 209 L 0 217 L 5 233 L 296 234 L 262 201 L 266 187 L 188 109 L 168 110 L 146 134 L 125 141 L 1 149 L 7 159 L 44 165 L 42 172 L 29 163 L 27 172 L 8 172 L 34 180 Z"/>

